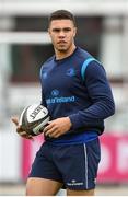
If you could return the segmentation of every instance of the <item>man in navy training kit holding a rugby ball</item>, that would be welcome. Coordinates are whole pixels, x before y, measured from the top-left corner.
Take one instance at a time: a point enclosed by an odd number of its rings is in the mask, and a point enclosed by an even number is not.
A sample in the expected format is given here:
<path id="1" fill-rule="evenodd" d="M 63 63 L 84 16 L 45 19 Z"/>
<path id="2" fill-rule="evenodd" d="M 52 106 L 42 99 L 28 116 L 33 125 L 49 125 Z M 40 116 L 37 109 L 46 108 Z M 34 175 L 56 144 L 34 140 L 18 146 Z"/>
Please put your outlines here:
<path id="1" fill-rule="evenodd" d="M 65 187 L 68 196 L 94 195 L 100 162 L 98 136 L 115 105 L 103 66 L 77 47 L 72 13 L 58 10 L 49 18 L 55 56 L 40 69 L 42 104 L 51 120 L 32 165 L 26 195 L 51 196 Z M 19 127 L 18 132 L 31 139 Z"/>

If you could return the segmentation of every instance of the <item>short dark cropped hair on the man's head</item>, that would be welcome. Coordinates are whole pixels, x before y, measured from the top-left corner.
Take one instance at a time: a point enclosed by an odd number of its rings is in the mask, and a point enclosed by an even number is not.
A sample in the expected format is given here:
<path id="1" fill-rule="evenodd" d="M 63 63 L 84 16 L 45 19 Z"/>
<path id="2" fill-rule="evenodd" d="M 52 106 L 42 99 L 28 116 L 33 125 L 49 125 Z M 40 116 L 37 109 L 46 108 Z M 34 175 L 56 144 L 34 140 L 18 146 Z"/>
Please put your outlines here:
<path id="1" fill-rule="evenodd" d="M 48 25 L 50 25 L 50 22 L 54 20 L 71 20 L 74 26 L 77 26 L 74 15 L 68 10 L 57 10 L 53 12 L 48 19 Z"/>

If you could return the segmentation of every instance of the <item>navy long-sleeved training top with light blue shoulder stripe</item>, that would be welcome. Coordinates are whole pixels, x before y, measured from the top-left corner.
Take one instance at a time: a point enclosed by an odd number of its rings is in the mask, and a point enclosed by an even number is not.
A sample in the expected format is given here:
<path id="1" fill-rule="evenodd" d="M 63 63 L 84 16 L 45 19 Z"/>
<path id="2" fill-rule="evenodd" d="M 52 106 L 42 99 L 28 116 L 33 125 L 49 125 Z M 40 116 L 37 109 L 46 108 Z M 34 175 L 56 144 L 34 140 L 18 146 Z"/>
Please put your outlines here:
<path id="1" fill-rule="evenodd" d="M 53 56 L 42 66 L 40 82 L 42 104 L 51 120 L 69 116 L 72 123 L 67 134 L 46 140 L 80 142 L 104 131 L 104 119 L 115 112 L 114 99 L 103 66 L 88 51 L 77 47 L 61 60 Z"/>

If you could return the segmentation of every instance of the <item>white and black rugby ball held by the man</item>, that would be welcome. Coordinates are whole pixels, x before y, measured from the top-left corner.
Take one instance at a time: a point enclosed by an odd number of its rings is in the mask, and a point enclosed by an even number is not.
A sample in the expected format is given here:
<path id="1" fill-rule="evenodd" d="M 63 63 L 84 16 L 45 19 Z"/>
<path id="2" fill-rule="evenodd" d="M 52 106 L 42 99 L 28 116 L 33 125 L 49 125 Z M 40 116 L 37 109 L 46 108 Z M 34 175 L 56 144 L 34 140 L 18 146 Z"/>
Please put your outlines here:
<path id="1" fill-rule="evenodd" d="M 48 109 L 38 104 L 32 104 L 25 107 L 20 116 L 19 125 L 26 134 L 38 136 L 49 121 Z"/>

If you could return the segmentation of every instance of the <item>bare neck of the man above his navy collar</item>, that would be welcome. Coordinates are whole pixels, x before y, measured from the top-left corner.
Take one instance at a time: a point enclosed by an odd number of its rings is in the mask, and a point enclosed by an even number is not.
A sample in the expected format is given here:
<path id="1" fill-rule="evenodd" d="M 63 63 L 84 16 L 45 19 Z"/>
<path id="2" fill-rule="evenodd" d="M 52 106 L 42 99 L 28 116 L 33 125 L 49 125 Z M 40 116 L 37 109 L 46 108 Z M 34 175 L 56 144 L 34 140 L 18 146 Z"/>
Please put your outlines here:
<path id="1" fill-rule="evenodd" d="M 70 56 L 71 54 L 73 54 L 74 50 L 75 50 L 74 44 L 68 50 L 59 51 L 59 50 L 55 49 L 56 59 L 57 60 L 63 59 L 63 58 Z"/>

